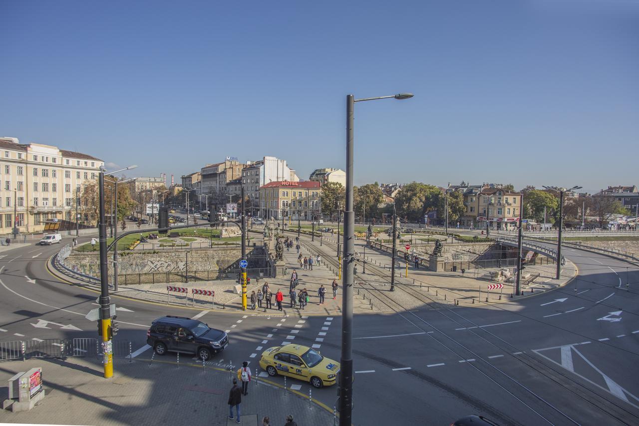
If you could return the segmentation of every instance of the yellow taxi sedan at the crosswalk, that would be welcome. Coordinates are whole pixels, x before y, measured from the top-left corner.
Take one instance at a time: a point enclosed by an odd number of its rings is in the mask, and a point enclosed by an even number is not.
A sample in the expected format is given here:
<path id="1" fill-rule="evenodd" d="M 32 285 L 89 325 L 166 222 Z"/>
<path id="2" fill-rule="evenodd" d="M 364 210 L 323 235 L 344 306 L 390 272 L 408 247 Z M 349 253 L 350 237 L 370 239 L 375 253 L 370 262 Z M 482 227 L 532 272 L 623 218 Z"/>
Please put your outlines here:
<path id="1" fill-rule="evenodd" d="M 268 375 L 288 375 L 321 388 L 335 384 L 340 366 L 337 361 L 321 356 L 315 349 L 289 344 L 270 347 L 262 352 L 259 367 L 266 370 Z"/>

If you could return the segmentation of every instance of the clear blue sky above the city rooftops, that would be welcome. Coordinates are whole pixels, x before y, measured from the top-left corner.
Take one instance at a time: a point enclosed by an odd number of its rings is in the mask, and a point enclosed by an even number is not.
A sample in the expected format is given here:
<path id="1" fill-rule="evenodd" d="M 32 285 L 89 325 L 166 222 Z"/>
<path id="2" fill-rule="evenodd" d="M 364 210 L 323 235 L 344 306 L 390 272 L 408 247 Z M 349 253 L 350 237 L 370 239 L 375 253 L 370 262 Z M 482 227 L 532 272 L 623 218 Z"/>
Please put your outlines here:
<path id="1" fill-rule="evenodd" d="M 176 178 L 639 184 L 639 0 L 0 0 L 0 136 Z"/>

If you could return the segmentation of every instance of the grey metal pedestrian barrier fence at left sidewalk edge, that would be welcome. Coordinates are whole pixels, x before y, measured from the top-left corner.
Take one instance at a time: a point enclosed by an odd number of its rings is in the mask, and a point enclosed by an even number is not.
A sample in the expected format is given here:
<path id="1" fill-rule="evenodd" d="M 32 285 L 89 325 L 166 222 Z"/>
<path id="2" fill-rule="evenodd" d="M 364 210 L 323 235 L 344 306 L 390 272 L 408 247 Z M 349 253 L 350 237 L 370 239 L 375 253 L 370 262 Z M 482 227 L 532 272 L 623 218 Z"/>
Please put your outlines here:
<path id="1" fill-rule="evenodd" d="M 95 356 L 102 358 L 101 340 L 97 338 L 12 340 L 0 342 L 0 361 L 22 361 L 33 358 L 67 358 Z M 131 342 L 125 339 L 111 341 L 113 356 L 131 359 Z"/>

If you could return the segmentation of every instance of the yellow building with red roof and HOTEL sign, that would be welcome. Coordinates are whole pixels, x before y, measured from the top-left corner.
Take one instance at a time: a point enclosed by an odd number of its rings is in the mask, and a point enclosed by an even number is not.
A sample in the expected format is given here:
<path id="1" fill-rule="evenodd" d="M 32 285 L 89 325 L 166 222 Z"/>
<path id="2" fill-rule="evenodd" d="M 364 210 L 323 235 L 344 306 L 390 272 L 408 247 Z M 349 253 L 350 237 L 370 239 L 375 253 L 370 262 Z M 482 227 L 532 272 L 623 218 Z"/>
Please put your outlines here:
<path id="1" fill-rule="evenodd" d="M 259 188 L 260 215 L 266 219 L 311 220 L 319 214 L 321 187 L 319 182 L 269 182 Z"/>

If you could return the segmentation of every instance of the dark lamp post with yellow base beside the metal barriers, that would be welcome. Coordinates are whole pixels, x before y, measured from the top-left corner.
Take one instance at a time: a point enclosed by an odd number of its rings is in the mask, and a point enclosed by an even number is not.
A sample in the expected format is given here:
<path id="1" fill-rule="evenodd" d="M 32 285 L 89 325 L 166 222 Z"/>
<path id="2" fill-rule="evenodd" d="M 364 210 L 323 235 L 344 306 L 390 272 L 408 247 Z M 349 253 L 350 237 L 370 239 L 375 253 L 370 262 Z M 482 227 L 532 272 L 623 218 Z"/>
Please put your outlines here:
<path id="1" fill-rule="evenodd" d="M 129 166 L 122 170 L 112 173 L 134 169 L 137 166 Z M 104 169 L 100 170 L 98 177 L 98 187 L 100 196 L 100 224 L 99 224 L 99 241 L 100 241 L 100 324 L 102 329 L 102 352 L 104 357 L 104 377 L 109 378 L 113 375 L 113 349 L 111 345 L 111 308 L 109 306 L 109 263 L 107 260 L 107 224 L 105 223 L 104 214 Z"/>

